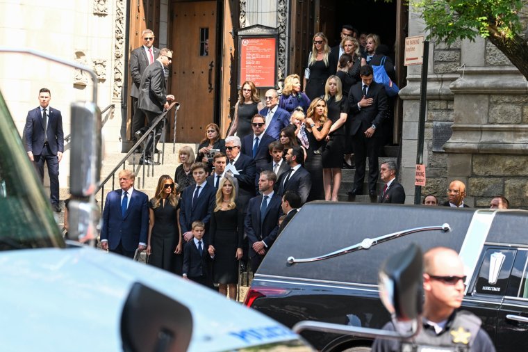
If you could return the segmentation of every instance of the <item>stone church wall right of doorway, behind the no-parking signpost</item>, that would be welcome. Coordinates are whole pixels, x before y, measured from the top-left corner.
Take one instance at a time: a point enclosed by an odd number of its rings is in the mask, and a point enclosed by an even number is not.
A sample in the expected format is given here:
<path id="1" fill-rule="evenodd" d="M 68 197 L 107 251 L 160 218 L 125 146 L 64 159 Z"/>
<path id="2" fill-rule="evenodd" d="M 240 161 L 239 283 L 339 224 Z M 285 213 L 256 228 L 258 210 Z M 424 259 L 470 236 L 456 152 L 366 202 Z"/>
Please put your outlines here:
<path id="1" fill-rule="evenodd" d="M 413 10 L 409 35 L 424 29 Z M 409 67 L 404 100 L 402 182 L 407 200 L 414 199 L 414 168 L 418 140 L 421 66 Z M 461 40 L 451 46 L 431 42 L 429 47 L 427 118 L 424 164 L 427 193 L 447 198 L 453 179 L 467 186 L 466 204 L 489 207 L 495 195 L 504 195 L 511 207 L 528 209 L 528 90 L 527 81 L 488 40 Z M 435 123 L 452 122 L 452 136 L 434 150 L 439 133 Z"/>

